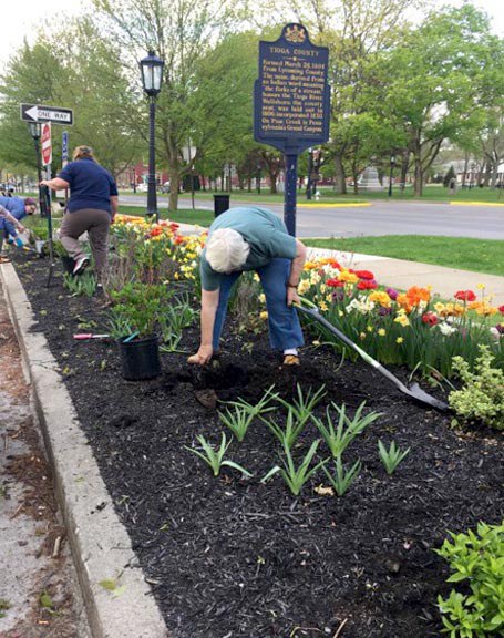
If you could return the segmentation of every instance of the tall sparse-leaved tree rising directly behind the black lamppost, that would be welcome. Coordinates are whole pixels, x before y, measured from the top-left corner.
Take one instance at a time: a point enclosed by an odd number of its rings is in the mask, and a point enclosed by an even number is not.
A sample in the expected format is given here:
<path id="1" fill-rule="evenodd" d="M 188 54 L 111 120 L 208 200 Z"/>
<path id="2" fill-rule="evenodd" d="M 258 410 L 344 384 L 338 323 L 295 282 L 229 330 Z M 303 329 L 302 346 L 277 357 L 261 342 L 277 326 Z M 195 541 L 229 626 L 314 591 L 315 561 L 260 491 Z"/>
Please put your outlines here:
<path id="1" fill-rule="evenodd" d="M 132 78 L 133 73 L 137 75 L 137 60 L 147 50 L 153 49 L 165 61 L 164 83 L 157 101 L 157 150 L 158 160 L 168 168 L 169 208 L 175 210 L 181 176 L 189 169 L 183 148 L 189 138 L 194 140 L 198 121 L 191 100 L 196 90 L 195 74 L 212 45 L 219 42 L 234 24 L 239 24 L 239 2 L 93 1 L 102 29 L 120 43 Z M 198 150 L 195 162 L 199 157 Z"/>

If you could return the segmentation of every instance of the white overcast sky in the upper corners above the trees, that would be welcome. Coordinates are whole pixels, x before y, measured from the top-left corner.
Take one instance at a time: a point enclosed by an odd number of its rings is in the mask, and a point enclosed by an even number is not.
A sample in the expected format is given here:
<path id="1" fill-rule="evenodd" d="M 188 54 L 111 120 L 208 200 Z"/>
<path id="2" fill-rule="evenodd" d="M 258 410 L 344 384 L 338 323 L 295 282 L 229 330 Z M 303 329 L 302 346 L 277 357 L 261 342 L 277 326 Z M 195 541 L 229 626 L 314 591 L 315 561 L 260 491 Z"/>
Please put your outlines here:
<path id="1" fill-rule="evenodd" d="M 461 6 L 463 0 L 432 0 L 434 6 Z M 504 37 L 504 0 L 473 0 L 476 7 L 491 17 L 493 31 Z M 3 0 L 0 38 L 0 69 L 13 50 L 19 49 L 24 37 L 30 41 L 34 31 L 43 27 L 47 18 L 61 20 L 64 16 L 75 16 L 85 11 L 89 0 Z"/>

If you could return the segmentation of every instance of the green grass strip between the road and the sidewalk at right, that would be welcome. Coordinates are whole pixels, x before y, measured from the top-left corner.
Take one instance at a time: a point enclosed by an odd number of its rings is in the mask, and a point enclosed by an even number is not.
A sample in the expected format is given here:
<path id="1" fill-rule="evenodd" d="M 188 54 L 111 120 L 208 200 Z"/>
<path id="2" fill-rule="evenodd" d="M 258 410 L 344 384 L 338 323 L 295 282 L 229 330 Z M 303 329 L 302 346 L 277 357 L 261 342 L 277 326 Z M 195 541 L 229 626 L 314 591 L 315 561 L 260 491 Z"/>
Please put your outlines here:
<path id="1" fill-rule="evenodd" d="M 349 239 L 305 239 L 307 246 L 379 255 L 409 261 L 504 276 L 504 240 L 385 235 Z"/>

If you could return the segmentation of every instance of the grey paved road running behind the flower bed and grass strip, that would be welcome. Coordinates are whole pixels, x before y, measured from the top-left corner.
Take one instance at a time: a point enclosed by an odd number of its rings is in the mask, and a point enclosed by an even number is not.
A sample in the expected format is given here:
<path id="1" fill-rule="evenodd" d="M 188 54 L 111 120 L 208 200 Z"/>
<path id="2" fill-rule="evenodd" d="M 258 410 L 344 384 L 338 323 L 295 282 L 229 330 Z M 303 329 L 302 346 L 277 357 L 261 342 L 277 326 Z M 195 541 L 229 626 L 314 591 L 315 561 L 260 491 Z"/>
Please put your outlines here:
<path id="1" fill-rule="evenodd" d="M 122 195 L 128 205 L 146 205 L 146 197 Z M 298 203 L 297 235 L 299 237 L 358 237 L 362 235 L 446 235 L 480 239 L 504 239 L 504 206 L 451 206 L 444 203 L 376 200 L 367 207 L 310 207 Z M 503 202 L 504 204 L 504 202 Z M 238 205 L 233 203 L 232 206 Z M 264 204 L 263 204 L 264 205 Z M 158 202 L 167 207 L 167 199 Z M 181 208 L 191 200 L 181 198 Z M 212 202 L 197 202 L 198 208 L 213 209 Z M 284 207 L 266 204 L 282 215 Z M 327 205 L 326 205 L 327 206 Z"/>

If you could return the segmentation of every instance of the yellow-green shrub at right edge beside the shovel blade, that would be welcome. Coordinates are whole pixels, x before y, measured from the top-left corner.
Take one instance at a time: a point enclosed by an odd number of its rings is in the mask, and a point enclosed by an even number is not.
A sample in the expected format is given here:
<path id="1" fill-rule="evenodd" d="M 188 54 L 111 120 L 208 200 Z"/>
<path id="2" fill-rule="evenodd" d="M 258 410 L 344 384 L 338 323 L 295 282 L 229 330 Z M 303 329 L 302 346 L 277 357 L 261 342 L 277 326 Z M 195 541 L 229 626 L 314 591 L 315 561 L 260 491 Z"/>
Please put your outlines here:
<path id="1" fill-rule="evenodd" d="M 504 430 L 504 372 L 492 368 L 493 354 L 480 346 L 474 372 L 462 357 L 453 358 L 453 368 L 463 382 L 461 390 L 450 392 L 450 407 L 463 419 L 477 419 L 497 430 Z"/>

